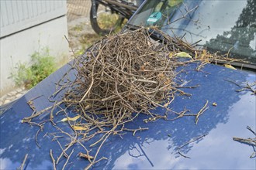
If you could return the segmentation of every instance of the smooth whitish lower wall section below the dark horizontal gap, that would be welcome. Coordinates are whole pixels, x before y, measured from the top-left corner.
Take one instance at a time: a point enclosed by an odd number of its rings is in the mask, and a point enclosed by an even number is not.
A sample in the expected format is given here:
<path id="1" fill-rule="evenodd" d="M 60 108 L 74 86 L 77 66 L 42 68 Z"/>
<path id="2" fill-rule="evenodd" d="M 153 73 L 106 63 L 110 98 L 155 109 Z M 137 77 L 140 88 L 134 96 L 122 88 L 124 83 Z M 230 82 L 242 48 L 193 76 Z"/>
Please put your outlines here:
<path id="1" fill-rule="evenodd" d="M 16 64 L 29 63 L 30 56 L 40 49 L 50 49 L 50 55 L 55 56 L 61 66 L 69 55 L 64 36 L 67 36 L 66 15 L 0 39 L 0 97 L 15 87 L 9 76 Z"/>

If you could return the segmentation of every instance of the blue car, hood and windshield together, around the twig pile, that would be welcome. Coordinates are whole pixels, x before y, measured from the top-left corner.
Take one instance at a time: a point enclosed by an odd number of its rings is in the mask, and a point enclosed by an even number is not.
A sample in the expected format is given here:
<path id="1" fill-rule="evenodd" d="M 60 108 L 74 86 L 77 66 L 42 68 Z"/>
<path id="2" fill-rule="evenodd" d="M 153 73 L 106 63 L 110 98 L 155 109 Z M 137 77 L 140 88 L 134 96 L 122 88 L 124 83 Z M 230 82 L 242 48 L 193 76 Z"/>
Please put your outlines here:
<path id="1" fill-rule="evenodd" d="M 195 71 L 196 63 L 180 66 L 182 89 L 191 96 L 178 96 L 168 106 L 177 112 L 207 109 L 196 117 L 173 121 L 159 119 L 145 123 L 140 115 L 127 127 L 148 128 L 122 135 L 111 135 L 102 145 L 92 169 L 256 169 L 256 2 L 255 0 L 161 0 L 144 1 L 123 31 L 141 26 L 157 27 L 169 36 L 182 37 L 198 49 L 228 54 L 237 62 L 208 63 Z M 152 39 L 162 41 L 160 33 Z M 239 59 L 244 59 L 239 61 Z M 247 62 L 245 62 L 247 61 Z M 14 103 L 2 107 L 0 169 L 84 169 L 90 162 L 81 156 L 85 148 L 71 142 L 73 131 L 64 117 L 54 117 L 60 133 L 49 121 L 24 124 L 33 110 L 43 110 L 57 83 L 70 68 L 63 66 Z M 235 70 L 236 69 L 236 70 Z M 58 94 L 61 97 L 61 93 Z M 69 110 L 72 114 L 71 110 Z M 157 107 L 152 113 L 164 114 Z M 41 121 L 49 115 L 41 115 Z M 71 135 L 71 136 L 69 136 Z M 93 141 L 84 141 L 88 145 Z M 90 143 L 90 144 L 89 144 Z M 62 146 L 62 147 L 61 147 Z M 87 157 L 87 158 L 86 158 Z"/>

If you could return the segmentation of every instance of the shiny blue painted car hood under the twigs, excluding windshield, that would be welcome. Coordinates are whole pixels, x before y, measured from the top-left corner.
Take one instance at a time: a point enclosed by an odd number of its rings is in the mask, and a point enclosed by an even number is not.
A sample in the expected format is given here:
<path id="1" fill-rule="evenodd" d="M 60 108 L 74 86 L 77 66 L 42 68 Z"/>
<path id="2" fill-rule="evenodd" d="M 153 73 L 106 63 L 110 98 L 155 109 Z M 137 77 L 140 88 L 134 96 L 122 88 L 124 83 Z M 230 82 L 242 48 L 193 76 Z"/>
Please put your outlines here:
<path id="1" fill-rule="evenodd" d="M 1 141 L 0 141 L 0 161 L 1 169 L 16 169 L 22 164 L 23 158 L 28 154 L 26 169 L 53 169 L 50 158 L 50 149 L 53 150 L 54 158 L 61 154 L 61 148 L 57 141 L 52 141 L 51 132 L 57 132 L 52 124 L 44 124 L 43 131 L 37 136 L 37 147 L 35 141 L 36 132 L 40 130 L 37 126 L 22 124 L 23 117 L 32 114 L 26 102 L 33 97 L 37 110 L 50 106 L 48 97 L 54 93 L 57 80 L 67 71 L 68 65 L 54 74 L 47 77 L 40 84 L 26 93 L 25 96 L 16 101 L 9 110 L 6 110 L 0 117 L 1 120 Z M 186 87 L 199 85 L 194 89 L 184 88 L 186 93 L 192 96 L 175 97 L 173 103 L 168 107 L 175 111 L 182 111 L 185 108 L 191 113 L 198 113 L 202 106 L 209 100 L 209 109 L 199 117 L 198 124 L 195 124 L 195 117 L 182 117 L 175 121 L 157 120 L 155 122 L 144 123 L 145 115 L 140 115 L 127 128 L 149 128 L 147 131 L 138 131 L 135 136 L 132 133 L 123 134 L 123 138 L 118 135 L 111 136 L 98 158 L 106 157 L 93 168 L 97 169 L 255 169 L 255 158 L 249 158 L 254 151 L 249 145 L 233 141 L 233 137 L 254 138 L 251 131 L 246 127 L 256 128 L 255 104 L 256 99 L 250 91 L 236 92 L 240 87 L 227 80 L 234 80 L 241 84 L 256 80 L 255 73 L 247 73 L 239 70 L 230 70 L 223 66 L 207 64 L 201 72 L 192 70 L 196 64 L 180 67 L 178 70 L 186 70 L 179 74 L 178 80 L 182 80 Z M 227 79 L 227 80 L 225 80 Z M 190 81 L 192 80 L 192 81 Z M 61 98 L 61 93 L 59 93 Z M 212 104 L 217 104 L 214 107 Z M 157 108 L 152 110 L 156 114 L 164 114 L 165 110 Z M 70 113 L 72 114 L 72 113 Z M 170 117 L 175 115 L 170 114 Z M 60 121 L 64 115 L 54 117 L 54 121 Z M 41 121 L 49 118 L 49 115 L 40 117 Z M 58 122 L 57 126 L 72 134 L 67 123 Z M 178 154 L 178 147 L 187 141 L 197 138 L 202 134 L 207 134 L 199 141 L 194 141 L 181 148 L 184 158 Z M 61 145 L 70 142 L 70 138 L 63 135 L 59 138 Z M 94 139 L 97 140 L 97 139 Z M 93 141 L 85 143 L 85 146 Z M 79 152 L 85 150 L 80 145 L 74 145 L 67 151 L 71 159 L 67 164 L 67 169 L 82 169 L 88 165 L 88 161 L 78 157 Z M 95 153 L 95 152 L 94 152 Z M 92 152 L 92 155 L 93 152 Z M 66 158 L 61 158 L 57 168 L 62 168 Z"/>

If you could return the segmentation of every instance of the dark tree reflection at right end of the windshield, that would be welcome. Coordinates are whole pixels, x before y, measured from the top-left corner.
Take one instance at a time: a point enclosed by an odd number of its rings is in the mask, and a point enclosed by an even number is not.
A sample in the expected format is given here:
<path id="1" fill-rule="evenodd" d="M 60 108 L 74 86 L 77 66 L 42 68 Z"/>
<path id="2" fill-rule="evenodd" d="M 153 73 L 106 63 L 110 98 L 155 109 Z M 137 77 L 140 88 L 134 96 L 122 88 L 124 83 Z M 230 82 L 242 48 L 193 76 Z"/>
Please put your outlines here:
<path id="1" fill-rule="evenodd" d="M 233 58 L 246 56 L 251 63 L 256 63 L 256 3 L 248 0 L 235 26 L 230 31 L 217 35 L 215 39 L 206 42 L 206 47 L 221 51 L 230 50 Z"/>

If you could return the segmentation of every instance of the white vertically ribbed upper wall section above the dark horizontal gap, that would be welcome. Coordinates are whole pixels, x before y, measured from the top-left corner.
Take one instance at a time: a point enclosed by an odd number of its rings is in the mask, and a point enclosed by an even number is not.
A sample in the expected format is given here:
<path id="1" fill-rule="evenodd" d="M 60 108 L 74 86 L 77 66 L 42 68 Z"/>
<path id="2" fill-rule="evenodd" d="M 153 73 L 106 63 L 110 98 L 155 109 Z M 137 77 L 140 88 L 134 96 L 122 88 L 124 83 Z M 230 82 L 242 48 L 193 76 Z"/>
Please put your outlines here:
<path id="1" fill-rule="evenodd" d="M 1 37 L 66 13 L 65 0 L 1 0 Z"/>

